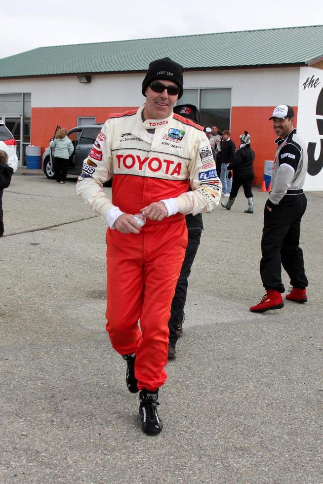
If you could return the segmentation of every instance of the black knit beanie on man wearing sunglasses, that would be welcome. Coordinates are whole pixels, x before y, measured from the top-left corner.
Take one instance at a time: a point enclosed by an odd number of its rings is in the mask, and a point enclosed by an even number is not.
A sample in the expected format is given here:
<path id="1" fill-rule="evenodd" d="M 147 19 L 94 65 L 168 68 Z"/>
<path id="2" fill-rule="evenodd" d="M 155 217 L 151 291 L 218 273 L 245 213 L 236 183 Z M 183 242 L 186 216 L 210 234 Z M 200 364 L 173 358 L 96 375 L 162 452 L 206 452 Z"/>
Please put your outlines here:
<path id="1" fill-rule="evenodd" d="M 182 66 L 176 62 L 169 59 L 169 57 L 164 57 L 163 59 L 157 59 L 149 64 L 148 71 L 146 73 L 145 79 L 142 81 L 142 93 L 144 96 L 145 91 L 149 84 L 156 81 L 157 79 L 165 79 L 168 81 L 173 81 L 179 87 L 178 99 L 183 95 L 183 72 Z"/>

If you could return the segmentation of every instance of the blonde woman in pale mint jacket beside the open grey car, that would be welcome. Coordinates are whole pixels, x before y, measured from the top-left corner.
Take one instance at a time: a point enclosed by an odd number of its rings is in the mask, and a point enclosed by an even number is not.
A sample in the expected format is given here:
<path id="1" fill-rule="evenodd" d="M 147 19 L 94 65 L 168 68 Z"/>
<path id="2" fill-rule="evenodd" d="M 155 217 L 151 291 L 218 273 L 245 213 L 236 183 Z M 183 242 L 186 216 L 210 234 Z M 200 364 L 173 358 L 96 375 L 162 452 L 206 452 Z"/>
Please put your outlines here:
<path id="1" fill-rule="evenodd" d="M 49 143 L 50 148 L 54 148 L 54 168 L 57 183 L 65 183 L 67 166 L 70 156 L 74 152 L 72 141 L 67 137 L 67 130 L 60 129 L 55 134 L 53 141 Z"/>

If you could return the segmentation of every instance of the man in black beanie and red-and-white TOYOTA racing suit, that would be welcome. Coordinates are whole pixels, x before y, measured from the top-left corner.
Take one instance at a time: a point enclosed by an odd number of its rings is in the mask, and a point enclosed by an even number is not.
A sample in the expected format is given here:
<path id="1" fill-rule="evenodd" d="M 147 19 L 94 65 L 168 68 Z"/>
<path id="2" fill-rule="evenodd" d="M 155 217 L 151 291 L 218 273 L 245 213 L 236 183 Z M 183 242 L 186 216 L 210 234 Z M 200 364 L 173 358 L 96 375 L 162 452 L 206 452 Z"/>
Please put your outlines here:
<path id="1" fill-rule="evenodd" d="M 142 86 L 146 103 L 109 116 L 77 184 L 78 195 L 109 224 L 106 329 L 127 362 L 129 391 L 140 391 L 147 434 L 162 429 L 157 399 L 167 377 L 167 322 L 187 245 L 185 214 L 209 212 L 221 196 L 202 127 L 172 111 L 183 93 L 182 73 L 168 57 L 150 63 Z M 110 201 L 102 184 L 112 172 Z M 142 228 L 138 212 L 146 216 Z"/>

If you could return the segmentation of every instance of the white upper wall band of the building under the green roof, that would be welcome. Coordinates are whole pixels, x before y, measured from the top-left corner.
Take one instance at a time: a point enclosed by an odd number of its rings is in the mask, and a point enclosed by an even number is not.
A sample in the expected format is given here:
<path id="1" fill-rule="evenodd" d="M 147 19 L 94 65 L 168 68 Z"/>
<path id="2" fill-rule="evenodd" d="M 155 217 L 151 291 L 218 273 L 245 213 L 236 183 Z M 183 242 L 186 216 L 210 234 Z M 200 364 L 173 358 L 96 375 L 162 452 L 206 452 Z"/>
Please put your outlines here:
<path id="1" fill-rule="evenodd" d="M 0 93 L 31 92 L 32 107 L 138 106 L 143 74 L 0 80 Z M 231 87 L 232 106 L 297 106 L 299 68 L 245 69 L 184 73 L 186 88 Z"/>

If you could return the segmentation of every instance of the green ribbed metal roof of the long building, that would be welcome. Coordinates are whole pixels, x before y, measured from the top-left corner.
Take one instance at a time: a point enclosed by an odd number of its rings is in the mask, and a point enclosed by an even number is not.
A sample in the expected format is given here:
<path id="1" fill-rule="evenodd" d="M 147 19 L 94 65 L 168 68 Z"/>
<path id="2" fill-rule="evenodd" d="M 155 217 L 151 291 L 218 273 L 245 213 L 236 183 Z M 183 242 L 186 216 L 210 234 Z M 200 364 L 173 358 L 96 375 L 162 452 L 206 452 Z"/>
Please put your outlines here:
<path id="1" fill-rule="evenodd" d="M 39 47 L 0 59 L 0 78 L 142 72 L 166 55 L 185 69 L 307 65 L 323 57 L 323 25 Z"/>

